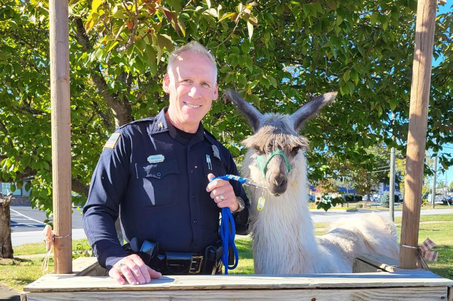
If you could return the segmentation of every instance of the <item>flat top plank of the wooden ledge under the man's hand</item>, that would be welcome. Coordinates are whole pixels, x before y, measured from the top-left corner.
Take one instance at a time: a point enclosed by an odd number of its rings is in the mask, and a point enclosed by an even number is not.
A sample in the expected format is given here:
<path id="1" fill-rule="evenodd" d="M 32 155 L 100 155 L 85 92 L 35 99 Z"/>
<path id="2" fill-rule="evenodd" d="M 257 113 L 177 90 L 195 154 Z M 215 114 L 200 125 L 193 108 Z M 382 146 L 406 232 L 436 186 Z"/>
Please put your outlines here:
<path id="1" fill-rule="evenodd" d="M 24 291 L 94 291 L 162 289 L 298 289 L 450 286 L 453 280 L 429 271 L 399 273 L 350 273 L 306 275 L 181 275 L 163 276 L 142 285 L 120 285 L 110 277 L 73 277 L 47 274 L 30 283 Z"/>

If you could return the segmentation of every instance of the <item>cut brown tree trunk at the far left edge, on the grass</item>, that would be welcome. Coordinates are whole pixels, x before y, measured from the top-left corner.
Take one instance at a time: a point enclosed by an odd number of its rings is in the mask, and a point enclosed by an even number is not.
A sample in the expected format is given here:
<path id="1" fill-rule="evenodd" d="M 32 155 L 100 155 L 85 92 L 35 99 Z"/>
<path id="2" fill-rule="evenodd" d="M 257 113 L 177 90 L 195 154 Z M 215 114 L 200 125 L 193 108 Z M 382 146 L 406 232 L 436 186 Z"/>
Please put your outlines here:
<path id="1" fill-rule="evenodd" d="M 0 192 L 0 258 L 13 258 L 10 203 L 11 194 L 4 196 Z"/>

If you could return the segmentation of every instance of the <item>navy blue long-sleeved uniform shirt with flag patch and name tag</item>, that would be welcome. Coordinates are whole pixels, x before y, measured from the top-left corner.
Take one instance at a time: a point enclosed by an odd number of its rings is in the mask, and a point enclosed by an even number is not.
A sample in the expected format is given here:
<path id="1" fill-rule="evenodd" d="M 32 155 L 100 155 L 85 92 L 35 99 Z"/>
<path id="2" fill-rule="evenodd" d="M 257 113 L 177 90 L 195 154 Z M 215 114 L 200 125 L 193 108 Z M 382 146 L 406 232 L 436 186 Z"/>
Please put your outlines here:
<path id="1" fill-rule="evenodd" d="M 94 171 L 84 228 L 107 269 L 127 255 L 114 226 L 119 211 L 125 239 L 136 237 L 139 246 L 148 240 L 159 242 L 164 251 L 204 253 L 219 239 L 221 210 L 206 191 L 207 174 L 238 175 L 236 164 L 201 123 L 189 141 L 181 137 L 167 122 L 166 109 L 156 118 L 118 128 Z M 246 203 L 246 209 L 234 214 L 237 233 L 246 234 L 250 203 L 242 185 L 231 184 Z"/>

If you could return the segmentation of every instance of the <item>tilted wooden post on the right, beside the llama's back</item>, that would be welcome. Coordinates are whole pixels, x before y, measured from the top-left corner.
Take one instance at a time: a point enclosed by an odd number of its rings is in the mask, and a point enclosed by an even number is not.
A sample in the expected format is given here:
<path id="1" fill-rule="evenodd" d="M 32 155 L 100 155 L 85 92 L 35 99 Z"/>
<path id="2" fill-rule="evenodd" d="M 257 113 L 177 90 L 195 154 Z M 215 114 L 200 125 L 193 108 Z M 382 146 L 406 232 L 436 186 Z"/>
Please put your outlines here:
<path id="1" fill-rule="evenodd" d="M 405 269 L 416 268 L 417 250 L 402 245 L 418 246 L 435 16 L 436 0 L 418 1 L 399 258 Z"/>

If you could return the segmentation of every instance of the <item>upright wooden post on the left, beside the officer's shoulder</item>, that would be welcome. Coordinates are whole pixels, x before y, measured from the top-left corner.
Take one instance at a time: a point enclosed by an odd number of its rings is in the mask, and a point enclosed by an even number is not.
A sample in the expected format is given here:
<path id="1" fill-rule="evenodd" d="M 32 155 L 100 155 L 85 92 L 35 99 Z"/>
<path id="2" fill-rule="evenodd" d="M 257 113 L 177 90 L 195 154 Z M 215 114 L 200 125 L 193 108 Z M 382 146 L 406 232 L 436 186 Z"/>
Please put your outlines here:
<path id="1" fill-rule="evenodd" d="M 49 20 L 54 270 L 68 274 L 72 272 L 72 222 L 67 0 L 49 1 Z"/>

